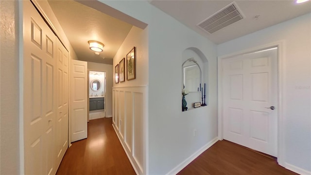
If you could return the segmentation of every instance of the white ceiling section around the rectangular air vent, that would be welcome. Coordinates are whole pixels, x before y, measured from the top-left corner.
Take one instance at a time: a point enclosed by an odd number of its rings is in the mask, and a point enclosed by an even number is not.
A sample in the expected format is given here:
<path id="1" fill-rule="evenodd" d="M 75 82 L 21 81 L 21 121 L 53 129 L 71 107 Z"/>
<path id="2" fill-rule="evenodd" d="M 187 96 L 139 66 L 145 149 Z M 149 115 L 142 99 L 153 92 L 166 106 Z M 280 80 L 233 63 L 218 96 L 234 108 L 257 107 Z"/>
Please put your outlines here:
<path id="1" fill-rule="evenodd" d="M 220 44 L 311 12 L 311 1 L 236 0 L 245 18 L 208 34 L 197 26 L 233 0 L 151 0 L 150 3 L 212 42 Z M 255 16 L 260 15 L 258 19 Z"/>

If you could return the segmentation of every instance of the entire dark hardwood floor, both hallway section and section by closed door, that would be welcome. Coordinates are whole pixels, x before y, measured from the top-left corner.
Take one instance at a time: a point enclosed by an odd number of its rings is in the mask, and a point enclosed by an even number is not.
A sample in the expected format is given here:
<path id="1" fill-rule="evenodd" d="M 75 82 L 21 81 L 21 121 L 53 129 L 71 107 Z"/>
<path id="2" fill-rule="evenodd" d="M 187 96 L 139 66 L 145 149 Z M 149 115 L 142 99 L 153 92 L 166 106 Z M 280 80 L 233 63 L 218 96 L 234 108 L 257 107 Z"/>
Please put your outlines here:
<path id="1" fill-rule="evenodd" d="M 112 127 L 91 120 L 88 138 L 72 143 L 56 175 L 136 175 Z M 230 141 L 217 141 L 178 175 L 297 175 L 276 160 Z"/>

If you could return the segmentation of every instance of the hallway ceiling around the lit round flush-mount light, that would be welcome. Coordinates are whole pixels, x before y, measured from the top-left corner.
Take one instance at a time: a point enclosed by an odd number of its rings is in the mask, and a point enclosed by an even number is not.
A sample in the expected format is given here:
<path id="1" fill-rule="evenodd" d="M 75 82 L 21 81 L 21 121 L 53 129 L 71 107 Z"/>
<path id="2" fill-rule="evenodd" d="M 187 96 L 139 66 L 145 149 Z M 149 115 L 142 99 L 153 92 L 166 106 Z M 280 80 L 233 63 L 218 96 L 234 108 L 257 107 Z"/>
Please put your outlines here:
<path id="1" fill-rule="evenodd" d="M 132 28 L 131 24 L 73 0 L 48 0 L 48 2 L 79 60 L 113 63 L 112 59 Z M 104 43 L 104 52 L 99 56 L 95 55 L 89 49 L 88 40 Z"/>

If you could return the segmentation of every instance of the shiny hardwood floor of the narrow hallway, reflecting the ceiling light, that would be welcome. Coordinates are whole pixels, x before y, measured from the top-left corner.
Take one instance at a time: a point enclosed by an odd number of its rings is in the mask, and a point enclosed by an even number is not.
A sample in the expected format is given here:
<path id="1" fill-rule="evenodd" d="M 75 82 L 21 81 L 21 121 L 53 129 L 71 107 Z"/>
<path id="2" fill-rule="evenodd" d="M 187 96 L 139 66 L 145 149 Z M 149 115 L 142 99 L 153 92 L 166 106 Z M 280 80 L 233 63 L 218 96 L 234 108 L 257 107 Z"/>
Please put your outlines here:
<path id="1" fill-rule="evenodd" d="M 90 120 L 88 138 L 67 150 L 56 175 L 136 175 L 112 127 L 112 118 Z"/>

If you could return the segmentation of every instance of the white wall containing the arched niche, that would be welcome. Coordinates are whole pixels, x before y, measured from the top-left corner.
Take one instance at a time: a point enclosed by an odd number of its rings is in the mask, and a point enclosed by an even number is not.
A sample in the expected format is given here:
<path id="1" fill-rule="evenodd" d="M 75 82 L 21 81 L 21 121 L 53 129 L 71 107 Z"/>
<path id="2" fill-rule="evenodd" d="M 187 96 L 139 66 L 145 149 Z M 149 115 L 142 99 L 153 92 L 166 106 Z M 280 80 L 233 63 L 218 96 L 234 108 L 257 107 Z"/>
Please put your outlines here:
<path id="1" fill-rule="evenodd" d="M 176 173 L 180 163 L 217 137 L 216 45 L 146 1 L 103 2 L 148 24 L 147 173 Z M 209 105 L 182 112 L 182 53 L 190 47 L 208 59 Z"/>

